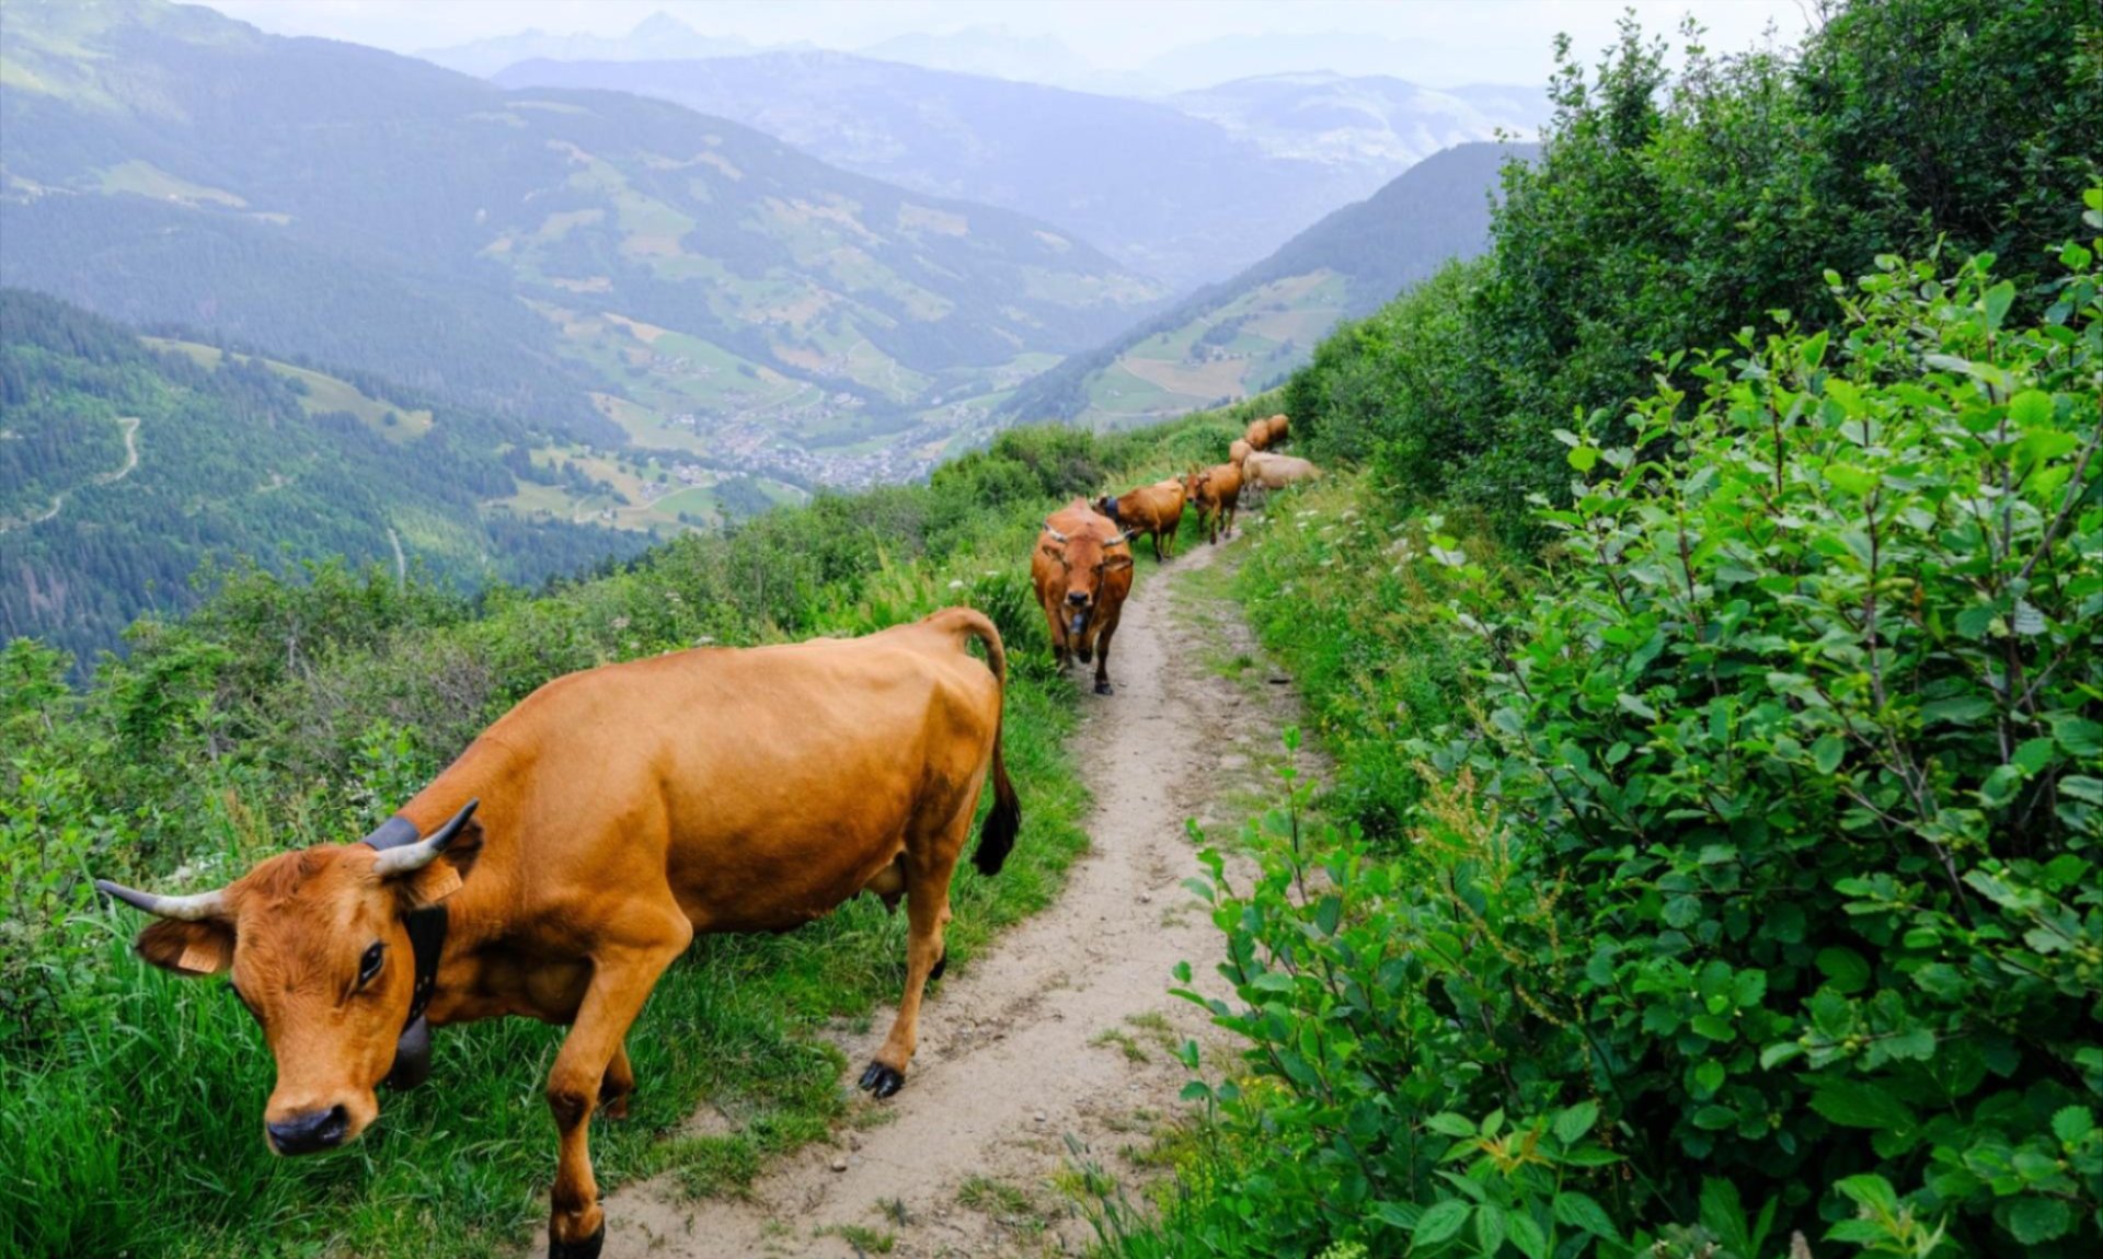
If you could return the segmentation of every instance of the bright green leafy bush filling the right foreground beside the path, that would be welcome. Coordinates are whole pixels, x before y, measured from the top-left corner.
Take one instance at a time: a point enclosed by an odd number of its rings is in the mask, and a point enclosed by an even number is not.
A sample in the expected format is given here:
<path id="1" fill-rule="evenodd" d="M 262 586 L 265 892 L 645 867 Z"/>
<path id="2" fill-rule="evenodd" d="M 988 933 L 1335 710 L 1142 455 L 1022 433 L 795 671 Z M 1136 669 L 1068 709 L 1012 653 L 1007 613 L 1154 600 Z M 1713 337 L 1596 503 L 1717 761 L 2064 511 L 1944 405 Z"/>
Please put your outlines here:
<path id="1" fill-rule="evenodd" d="M 1882 259 L 1840 330 L 1659 362 L 1565 435 L 1520 599 L 1436 528 L 1327 544 L 1354 607 L 1298 637 L 1422 635 L 1401 563 L 1487 668 L 1388 731 L 1398 853 L 1295 788 L 1253 887 L 1216 860 L 1247 1076 L 1161 1253 L 2103 1244 L 2103 284 L 2061 261 L 2029 319 L 1992 256 Z"/>

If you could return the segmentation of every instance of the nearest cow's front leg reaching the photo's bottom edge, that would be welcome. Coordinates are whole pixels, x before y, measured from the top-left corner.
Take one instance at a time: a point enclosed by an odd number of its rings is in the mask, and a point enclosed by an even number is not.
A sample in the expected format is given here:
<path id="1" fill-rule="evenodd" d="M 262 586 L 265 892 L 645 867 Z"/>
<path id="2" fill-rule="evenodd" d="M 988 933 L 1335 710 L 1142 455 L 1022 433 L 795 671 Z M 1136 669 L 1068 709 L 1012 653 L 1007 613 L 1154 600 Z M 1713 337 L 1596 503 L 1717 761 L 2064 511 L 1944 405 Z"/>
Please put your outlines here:
<path id="1" fill-rule="evenodd" d="M 547 1076 L 547 1108 L 555 1112 L 557 1133 L 555 1188 L 549 1192 L 547 1219 L 549 1259 L 597 1259 L 599 1246 L 606 1244 L 599 1181 L 591 1175 L 591 1110 L 658 975 L 694 937 L 694 927 L 683 914 L 667 910 L 667 916 L 658 942 L 618 944 L 593 956 L 591 988 L 585 990 L 576 1021 L 562 1043 L 562 1053 L 555 1055 L 555 1070 Z M 622 931 L 635 933 L 644 927 L 635 919 L 648 921 L 650 914 L 625 919 Z"/>

